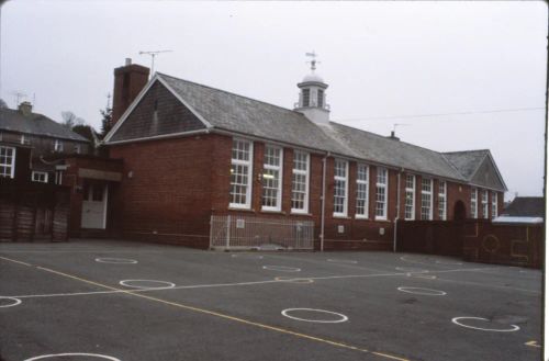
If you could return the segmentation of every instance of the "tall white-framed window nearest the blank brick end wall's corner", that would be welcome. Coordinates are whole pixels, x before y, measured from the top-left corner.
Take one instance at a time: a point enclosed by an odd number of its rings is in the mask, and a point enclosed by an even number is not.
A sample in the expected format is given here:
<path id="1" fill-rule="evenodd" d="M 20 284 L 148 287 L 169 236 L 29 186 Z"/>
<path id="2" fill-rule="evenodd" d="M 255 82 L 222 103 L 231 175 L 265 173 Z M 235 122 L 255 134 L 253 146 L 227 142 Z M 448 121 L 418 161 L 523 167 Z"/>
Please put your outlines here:
<path id="1" fill-rule="evenodd" d="M 231 202 L 229 207 L 251 207 L 251 165 L 254 144 L 249 140 L 233 139 L 231 156 Z"/>

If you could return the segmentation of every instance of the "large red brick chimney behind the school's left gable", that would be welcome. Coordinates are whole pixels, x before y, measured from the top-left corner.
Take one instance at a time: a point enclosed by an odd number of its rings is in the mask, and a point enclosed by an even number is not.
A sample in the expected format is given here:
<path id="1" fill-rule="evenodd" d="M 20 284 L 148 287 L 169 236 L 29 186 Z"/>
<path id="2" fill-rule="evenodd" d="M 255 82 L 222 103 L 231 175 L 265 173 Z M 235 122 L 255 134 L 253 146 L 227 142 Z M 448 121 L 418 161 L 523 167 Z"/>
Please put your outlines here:
<path id="1" fill-rule="evenodd" d="M 145 87 L 149 72 L 149 68 L 132 64 L 131 58 L 126 58 L 123 67 L 114 69 L 112 125 L 120 120 L 139 91 Z"/>

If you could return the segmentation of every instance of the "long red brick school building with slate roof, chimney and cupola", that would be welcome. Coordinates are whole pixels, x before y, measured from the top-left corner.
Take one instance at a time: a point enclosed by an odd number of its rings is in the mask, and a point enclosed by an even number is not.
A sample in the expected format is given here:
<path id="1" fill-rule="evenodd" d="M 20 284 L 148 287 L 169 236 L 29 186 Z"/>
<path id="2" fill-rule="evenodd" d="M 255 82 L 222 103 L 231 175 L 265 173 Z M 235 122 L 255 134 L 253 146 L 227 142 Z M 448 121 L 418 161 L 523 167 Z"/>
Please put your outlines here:
<path id="1" fill-rule="evenodd" d="M 104 139 L 122 173 L 104 184 L 109 226 L 198 248 L 392 249 L 399 221 L 501 214 L 506 185 L 490 150 L 439 153 L 338 124 L 314 70 L 298 88 L 284 109 L 148 80 L 126 60 Z"/>

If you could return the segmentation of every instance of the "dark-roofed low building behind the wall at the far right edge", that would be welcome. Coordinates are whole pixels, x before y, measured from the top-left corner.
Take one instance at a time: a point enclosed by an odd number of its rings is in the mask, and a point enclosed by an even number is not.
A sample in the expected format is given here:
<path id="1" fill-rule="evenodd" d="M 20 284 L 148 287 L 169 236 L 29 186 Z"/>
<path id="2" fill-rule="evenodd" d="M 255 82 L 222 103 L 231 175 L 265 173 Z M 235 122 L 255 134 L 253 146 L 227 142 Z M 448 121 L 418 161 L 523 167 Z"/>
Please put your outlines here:
<path id="1" fill-rule="evenodd" d="M 496 223 L 544 223 L 546 216 L 546 203 L 542 196 L 515 196 L 494 219 Z"/>

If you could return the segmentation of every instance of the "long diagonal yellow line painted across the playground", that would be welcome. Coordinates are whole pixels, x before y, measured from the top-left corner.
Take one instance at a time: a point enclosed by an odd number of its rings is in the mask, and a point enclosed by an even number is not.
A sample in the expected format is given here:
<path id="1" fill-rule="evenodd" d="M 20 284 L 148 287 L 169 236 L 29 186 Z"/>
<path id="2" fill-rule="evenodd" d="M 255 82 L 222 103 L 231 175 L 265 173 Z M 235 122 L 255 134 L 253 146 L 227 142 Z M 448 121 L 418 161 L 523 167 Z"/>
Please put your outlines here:
<path id="1" fill-rule="evenodd" d="M 146 300 L 159 302 L 159 303 L 163 303 L 163 304 L 166 304 L 166 305 L 170 305 L 170 306 L 175 306 L 175 307 L 179 307 L 179 308 L 183 308 L 183 309 L 188 309 L 188 311 L 193 311 L 193 312 L 197 312 L 197 313 L 202 313 L 202 314 L 206 314 L 206 315 L 211 315 L 211 316 L 216 316 L 216 317 L 220 317 L 220 318 L 224 318 L 224 319 L 233 320 L 233 321 L 245 324 L 245 325 L 249 325 L 249 326 L 255 326 L 255 327 L 268 329 L 268 330 L 271 330 L 271 331 L 277 331 L 277 332 L 280 332 L 280 334 L 295 336 L 298 338 L 304 338 L 304 339 L 307 339 L 307 340 L 317 341 L 317 342 L 322 342 L 322 343 L 335 346 L 335 347 L 347 349 L 347 350 L 354 350 L 354 351 L 359 351 L 359 352 L 365 352 L 365 353 L 372 353 L 372 354 L 376 354 L 376 356 L 379 356 L 379 357 L 383 357 L 383 358 L 388 358 L 388 359 L 392 359 L 392 360 L 411 361 L 408 359 L 402 359 L 402 358 L 399 358 L 399 357 L 395 357 L 395 356 L 391 356 L 391 354 L 386 354 L 386 353 L 368 351 L 365 348 L 360 348 L 360 347 L 356 347 L 356 346 L 343 343 L 343 342 L 339 342 L 339 341 L 333 341 L 333 340 L 328 340 L 328 339 L 316 337 L 316 336 L 311 336 L 311 335 L 306 335 L 306 334 L 301 334 L 301 332 L 292 331 L 292 330 L 289 330 L 289 329 L 285 329 L 285 328 L 281 328 L 281 327 L 269 326 L 269 325 L 266 325 L 266 324 L 260 324 L 260 323 L 247 320 L 247 319 L 244 319 L 244 318 L 225 315 L 225 314 L 217 313 L 217 312 L 214 312 L 214 311 L 209 311 L 209 309 L 204 309 L 204 308 L 188 306 L 188 305 L 183 305 L 183 304 L 177 303 L 177 302 L 166 301 L 166 300 L 161 300 L 161 298 L 148 296 L 148 295 L 141 294 L 141 293 L 134 293 L 134 292 L 127 291 L 127 290 L 121 290 L 121 289 L 112 287 L 112 286 L 107 285 L 107 284 L 102 284 L 102 283 L 99 283 L 99 282 L 86 280 L 86 279 L 79 278 L 77 275 L 72 275 L 72 274 L 59 272 L 59 271 L 52 270 L 52 269 L 48 269 L 48 268 L 45 268 L 45 267 L 36 267 L 36 268 L 40 269 L 40 270 L 52 272 L 52 273 L 55 273 L 55 274 L 58 274 L 58 275 L 63 275 L 63 277 L 66 277 L 66 278 L 69 278 L 69 279 L 78 280 L 80 282 L 93 284 L 93 285 L 97 285 L 97 286 L 100 286 L 100 287 L 103 287 L 103 289 L 108 289 L 108 290 L 112 290 L 112 291 L 119 291 L 121 293 L 125 293 L 125 294 L 133 295 L 133 296 L 136 296 L 136 297 L 142 297 L 142 298 L 146 298 Z"/>

